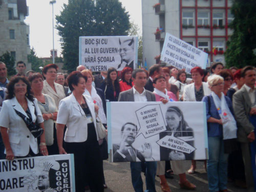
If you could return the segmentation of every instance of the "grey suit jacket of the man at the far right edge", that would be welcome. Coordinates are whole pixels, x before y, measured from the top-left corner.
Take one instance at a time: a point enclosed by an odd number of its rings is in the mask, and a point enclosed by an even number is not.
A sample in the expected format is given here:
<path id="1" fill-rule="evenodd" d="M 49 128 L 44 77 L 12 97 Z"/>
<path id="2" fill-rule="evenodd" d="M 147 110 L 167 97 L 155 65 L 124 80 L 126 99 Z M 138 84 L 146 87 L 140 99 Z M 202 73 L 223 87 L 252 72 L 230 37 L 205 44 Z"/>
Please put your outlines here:
<path id="1" fill-rule="evenodd" d="M 251 101 L 245 86 L 234 93 L 233 109 L 238 125 L 238 141 L 249 142 L 247 135 L 254 130 L 254 126 L 249 120 Z"/>

